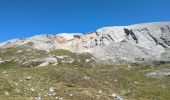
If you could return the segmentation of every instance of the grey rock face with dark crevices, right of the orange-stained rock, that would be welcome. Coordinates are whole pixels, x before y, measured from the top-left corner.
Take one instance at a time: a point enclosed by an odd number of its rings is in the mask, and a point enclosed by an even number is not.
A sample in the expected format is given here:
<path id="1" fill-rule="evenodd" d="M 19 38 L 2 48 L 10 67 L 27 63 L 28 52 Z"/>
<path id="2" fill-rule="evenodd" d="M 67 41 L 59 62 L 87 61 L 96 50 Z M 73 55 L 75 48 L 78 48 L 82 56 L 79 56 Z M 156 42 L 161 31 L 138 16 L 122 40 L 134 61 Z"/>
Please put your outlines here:
<path id="1" fill-rule="evenodd" d="M 104 27 L 97 34 L 103 37 L 104 46 L 93 53 L 103 60 L 163 60 L 170 55 L 169 22 Z"/>

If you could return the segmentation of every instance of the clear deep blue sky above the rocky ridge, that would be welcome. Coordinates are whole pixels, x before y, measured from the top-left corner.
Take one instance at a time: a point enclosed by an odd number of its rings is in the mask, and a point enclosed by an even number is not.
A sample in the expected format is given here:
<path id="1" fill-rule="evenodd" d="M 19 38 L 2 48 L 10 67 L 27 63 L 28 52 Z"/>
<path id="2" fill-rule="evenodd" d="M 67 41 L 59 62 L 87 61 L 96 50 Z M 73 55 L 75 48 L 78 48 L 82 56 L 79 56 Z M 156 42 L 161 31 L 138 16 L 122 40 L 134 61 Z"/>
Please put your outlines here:
<path id="1" fill-rule="evenodd" d="M 170 21 L 170 0 L 0 0 L 0 42 Z"/>

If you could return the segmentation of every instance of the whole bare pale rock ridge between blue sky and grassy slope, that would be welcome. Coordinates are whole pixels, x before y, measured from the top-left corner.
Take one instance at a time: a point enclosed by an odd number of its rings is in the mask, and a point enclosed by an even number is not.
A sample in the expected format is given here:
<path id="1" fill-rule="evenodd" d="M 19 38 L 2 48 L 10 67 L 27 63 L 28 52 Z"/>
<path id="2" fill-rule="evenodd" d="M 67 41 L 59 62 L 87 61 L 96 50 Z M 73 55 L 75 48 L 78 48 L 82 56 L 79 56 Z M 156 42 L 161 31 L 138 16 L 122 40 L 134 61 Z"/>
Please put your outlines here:
<path id="1" fill-rule="evenodd" d="M 0 43 L 4 48 L 28 45 L 38 50 L 65 49 L 89 52 L 104 61 L 170 60 L 170 22 L 114 26 L 96 32 L 37 35 Z"/>

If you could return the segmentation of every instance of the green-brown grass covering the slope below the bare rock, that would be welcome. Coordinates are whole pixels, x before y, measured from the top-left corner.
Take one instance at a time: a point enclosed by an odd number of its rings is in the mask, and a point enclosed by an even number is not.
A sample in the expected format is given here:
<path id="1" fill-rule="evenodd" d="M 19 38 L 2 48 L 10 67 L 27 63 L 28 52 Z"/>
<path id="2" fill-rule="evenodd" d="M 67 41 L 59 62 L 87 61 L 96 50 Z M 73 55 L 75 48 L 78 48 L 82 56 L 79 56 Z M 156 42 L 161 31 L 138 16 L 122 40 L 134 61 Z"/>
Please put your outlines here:
<path id="1" fill-rule="evenodd" d="M 0 99 L 2 100 L 43 100 L 63 98 L 64 100 L 113 100 L 112 93 L 128 100 L 169 100 L 170 77 L 152 79 L 146 72 L 168 68 L 164 65 L 96 65 L 85 63 L 89 54 L 75 55 L 65 50 L 30 51 L 16 53 L 21 48 L 9 48 L 0 58 L 31 58 L 47 55 L 69 55 L 80 62 L 60 63 L 56 66 L 28 68 L 18 63 L 8 62 L 0 65 Z M 26 50 L 22 48 L 22 50 Z M 31 79 L 27 77 L 31 76 Z M 53 87 L 56 95 L 49 96 Z M 31 90 L 31 88 L 34 89 Z M 101 92 L 102 91 L 102 92 Z M 9 96 L 5 96 L 5 92 Z"/>

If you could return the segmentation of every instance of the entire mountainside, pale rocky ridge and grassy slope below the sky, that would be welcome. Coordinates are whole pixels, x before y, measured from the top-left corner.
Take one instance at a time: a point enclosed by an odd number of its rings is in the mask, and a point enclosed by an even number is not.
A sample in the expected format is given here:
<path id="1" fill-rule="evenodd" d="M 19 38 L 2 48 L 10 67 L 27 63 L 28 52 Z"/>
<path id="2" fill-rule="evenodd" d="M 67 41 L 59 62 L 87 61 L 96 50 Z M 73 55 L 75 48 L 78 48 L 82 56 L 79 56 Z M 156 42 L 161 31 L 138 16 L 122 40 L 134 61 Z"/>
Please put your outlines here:
<path id="1" fill-rule="evenodd" d="M 170 100 L 170 22 L 0 43 L 0 100 Z"/>

